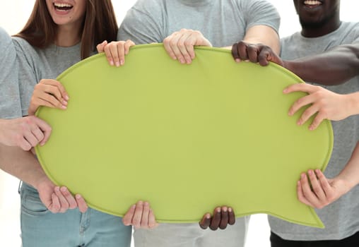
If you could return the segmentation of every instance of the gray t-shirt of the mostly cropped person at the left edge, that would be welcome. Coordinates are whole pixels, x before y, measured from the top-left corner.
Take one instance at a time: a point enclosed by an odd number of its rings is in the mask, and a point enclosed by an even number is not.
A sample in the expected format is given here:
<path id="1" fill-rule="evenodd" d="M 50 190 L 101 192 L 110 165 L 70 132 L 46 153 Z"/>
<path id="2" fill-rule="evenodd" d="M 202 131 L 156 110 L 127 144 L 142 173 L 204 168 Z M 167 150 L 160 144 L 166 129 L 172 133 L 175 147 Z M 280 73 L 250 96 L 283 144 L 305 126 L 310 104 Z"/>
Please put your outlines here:
<path id="1" fill-rule="evenodd" d="M 21 116 L 18 89 L 18 66 L 11 37 L 0 28 L 0 118 L 14 119 Z"/>

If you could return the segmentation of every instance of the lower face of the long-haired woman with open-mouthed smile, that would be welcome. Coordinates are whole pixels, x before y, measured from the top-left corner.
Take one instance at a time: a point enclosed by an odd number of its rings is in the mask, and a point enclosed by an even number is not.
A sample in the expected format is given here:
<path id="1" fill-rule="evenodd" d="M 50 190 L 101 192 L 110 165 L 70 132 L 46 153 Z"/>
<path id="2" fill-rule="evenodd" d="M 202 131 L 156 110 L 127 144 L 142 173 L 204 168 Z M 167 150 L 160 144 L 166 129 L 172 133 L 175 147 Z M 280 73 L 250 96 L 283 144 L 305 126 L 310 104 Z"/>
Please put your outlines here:
<path id="1" fill-rule="evenodd" d="M 57 25 L 81 25 L 87 0 L 46 0 L 47 9 Z"/>

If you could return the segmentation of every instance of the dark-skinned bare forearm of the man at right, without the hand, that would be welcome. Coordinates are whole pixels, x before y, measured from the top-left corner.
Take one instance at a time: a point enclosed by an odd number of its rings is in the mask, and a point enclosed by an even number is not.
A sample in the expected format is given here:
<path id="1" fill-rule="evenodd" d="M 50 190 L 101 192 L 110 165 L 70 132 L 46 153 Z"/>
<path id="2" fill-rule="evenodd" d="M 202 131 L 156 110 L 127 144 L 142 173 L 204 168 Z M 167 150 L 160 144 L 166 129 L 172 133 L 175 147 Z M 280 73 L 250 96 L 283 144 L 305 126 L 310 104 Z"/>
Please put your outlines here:
<path id="1" fill-rule="evenodd" d="M 283 64 L 307 82 L 339 85 L 359 75 L 359 44 L 341 45 L 315 56 L 283 61 Z"/>

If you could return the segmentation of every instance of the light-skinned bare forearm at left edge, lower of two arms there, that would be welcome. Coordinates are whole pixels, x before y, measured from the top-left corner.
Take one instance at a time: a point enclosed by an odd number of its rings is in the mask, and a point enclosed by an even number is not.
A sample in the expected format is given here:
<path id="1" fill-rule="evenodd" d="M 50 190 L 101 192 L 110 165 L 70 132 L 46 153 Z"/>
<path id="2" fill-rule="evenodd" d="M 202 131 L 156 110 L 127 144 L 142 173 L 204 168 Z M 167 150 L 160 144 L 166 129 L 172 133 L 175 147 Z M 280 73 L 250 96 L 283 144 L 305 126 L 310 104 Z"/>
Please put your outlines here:
<path id="1" fill-rule="evenodd" d="M 35 188 L 40 181 L 47 178 L 35 156 L 19 147 L 0 144 L 0 168 Z"/>

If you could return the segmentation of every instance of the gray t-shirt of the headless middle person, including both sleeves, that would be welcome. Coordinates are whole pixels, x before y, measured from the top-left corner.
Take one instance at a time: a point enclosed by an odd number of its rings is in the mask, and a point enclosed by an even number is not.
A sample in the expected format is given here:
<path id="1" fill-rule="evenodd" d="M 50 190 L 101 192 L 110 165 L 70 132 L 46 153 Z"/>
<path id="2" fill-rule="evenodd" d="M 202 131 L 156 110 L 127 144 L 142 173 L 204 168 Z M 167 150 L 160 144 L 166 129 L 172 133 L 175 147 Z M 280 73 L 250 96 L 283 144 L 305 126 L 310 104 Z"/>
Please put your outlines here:
<path id="1" fill-rule="evenodd" d="M 182 28 L 199 30 L 213 47 L 243 40 L 254 25 L 278 32 L 276 8 L 263 0 L 138 0 L 119 27 L 117 40 L 163 42 Z"/>

